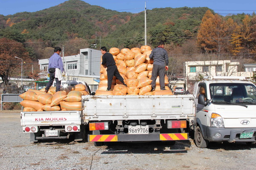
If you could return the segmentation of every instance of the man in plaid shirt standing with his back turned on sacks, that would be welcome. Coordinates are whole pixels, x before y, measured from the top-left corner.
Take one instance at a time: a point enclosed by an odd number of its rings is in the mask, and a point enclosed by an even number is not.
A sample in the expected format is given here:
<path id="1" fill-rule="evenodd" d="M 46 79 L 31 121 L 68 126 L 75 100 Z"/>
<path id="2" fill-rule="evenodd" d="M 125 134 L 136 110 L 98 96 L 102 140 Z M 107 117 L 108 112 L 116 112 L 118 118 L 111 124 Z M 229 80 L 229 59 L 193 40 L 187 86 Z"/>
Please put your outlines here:
<path id="1" fill-rule="evenodd" d="M 160 41 L 158 44 L 157 48 L 154 48 L 149 55 L 150 59 L 154 59 L 153 62 L 153 71 L 152 71 L 152 76 L 151 76 L 151 91 L 154 91 L 156 88 L 156 79 L 157 76 L 159 76 L 159 82 L 160 82 L 160 89 L 161 90 L 166 90 L 165 89 L 165 84 L 164 84 L 164 72 L 165 70 L 168 70 L 168 55 L 164 47 L 164 42 Z"/>

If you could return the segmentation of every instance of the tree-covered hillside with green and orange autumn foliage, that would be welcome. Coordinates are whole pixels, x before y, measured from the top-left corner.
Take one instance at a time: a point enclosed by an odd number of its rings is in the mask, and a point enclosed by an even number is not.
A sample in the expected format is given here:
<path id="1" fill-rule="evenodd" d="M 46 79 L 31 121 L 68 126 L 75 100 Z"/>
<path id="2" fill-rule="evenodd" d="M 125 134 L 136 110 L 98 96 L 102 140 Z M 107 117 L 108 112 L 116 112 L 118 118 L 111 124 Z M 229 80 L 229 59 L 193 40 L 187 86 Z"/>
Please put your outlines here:
<path id="1" fill-rule="evenodd" d="M 153 8 L 147 10 L 147 39 L 152 48 L 160 40 L 166 42 L 171 75 L 182 75 L 183 63 L 191 60 L 253 63 L 256 15 L 224 17 L 207 7 Z M 65 56 L 78 54 L 81 48 L 140 47 L 144 45 L 144 11 L 118 12 L 81 0 L 68 0 L 37 12 L 0 15 L 0 44 L 6 47 L 1 48 L 1 58 L 10 56 L 8 46 L 20 45 L 25 68 L 33 63 L 38 65 L 38 59 L 49 58 L 57 45 L 65 47 Z M 1 77 L 3 73 L 0 71 Z M 37 77 L 29 69 L 23 74 Z M 19 74 L 14 71 L 8 75 Z"/>

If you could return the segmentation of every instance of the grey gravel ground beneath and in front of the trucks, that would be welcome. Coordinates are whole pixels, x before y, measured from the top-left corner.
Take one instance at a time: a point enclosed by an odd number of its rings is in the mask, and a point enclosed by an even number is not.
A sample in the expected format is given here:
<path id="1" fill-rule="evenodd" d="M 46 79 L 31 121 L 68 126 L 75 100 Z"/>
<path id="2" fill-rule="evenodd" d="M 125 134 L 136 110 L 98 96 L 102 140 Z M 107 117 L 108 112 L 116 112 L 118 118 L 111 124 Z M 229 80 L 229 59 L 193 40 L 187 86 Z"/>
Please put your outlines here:
<path id="1" fill-rule="evenodd" d="M 45 141 L 31 144 L 22 133 L 20 113 L 0 111 L 1 170 L 244 170 L 255 169 L 256 146 L 211 143 L 200 149 L 192 140 L 149 143 Z"/>

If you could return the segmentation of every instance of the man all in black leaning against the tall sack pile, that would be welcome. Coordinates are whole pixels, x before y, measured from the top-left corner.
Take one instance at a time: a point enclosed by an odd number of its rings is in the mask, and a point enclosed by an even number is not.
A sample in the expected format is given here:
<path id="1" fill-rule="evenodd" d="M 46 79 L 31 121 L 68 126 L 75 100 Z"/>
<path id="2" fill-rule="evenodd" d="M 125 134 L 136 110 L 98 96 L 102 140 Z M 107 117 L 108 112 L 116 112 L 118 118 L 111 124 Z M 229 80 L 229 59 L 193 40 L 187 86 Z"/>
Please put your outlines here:
<path id="1" fill-rule="evenodd" d="M 126 84 L 124 82 L 124 79 L 122 78 L 119 71 L 117 70 L 116 62 L 113 58 L 113 55 L 107 52 L 106 47 L 100 48 L 100 51 L 103 54 L 103 56 L 102 56 L 102 65 L 107 65 L 107 75 L 108 75 L 107 91 L 111 90 L 112 79 L 113 79 L 114 76 L 116 76 L 116 78 L 119 79 L 120 82 L 122 82 L 123 85 L 126 86 Z"/>

